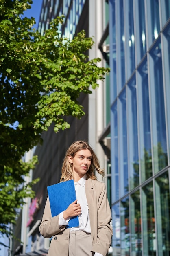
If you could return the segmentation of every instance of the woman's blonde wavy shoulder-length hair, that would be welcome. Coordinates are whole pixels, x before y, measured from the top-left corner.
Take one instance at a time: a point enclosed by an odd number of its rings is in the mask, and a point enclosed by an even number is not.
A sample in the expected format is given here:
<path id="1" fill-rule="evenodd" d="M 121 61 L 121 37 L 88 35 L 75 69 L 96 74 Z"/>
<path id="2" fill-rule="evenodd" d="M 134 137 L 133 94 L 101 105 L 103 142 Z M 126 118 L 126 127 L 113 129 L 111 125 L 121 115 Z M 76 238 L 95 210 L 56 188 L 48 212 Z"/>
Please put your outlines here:
<path id="1" fill-rule="evenodd" d="M 95 175 L 95 170 L 104 177 L 105 172 L 103 169 L 100 169 L 100 164 L 98 161 L 98 158 L 94 151 L 92 150 L 91 146 L 86 141 L 80 140 L 75 141 L 70 145 L 68 150 L 65 153 L 65 158 L 63 160 L 63 165 L 61 168 L 61 179 L 60 182 L 72 180 L 73 179 L 73 167 L 72 164 L 69 162 L 68 157 L 71 155 L 73 158 L 76 155 L 78 151 L 88 149 L 90 153 L 92 154 L 92 162 L 90 165 L 89 170 L 86 173 L 87 179 L 97 180 L 97 177 Z"/>

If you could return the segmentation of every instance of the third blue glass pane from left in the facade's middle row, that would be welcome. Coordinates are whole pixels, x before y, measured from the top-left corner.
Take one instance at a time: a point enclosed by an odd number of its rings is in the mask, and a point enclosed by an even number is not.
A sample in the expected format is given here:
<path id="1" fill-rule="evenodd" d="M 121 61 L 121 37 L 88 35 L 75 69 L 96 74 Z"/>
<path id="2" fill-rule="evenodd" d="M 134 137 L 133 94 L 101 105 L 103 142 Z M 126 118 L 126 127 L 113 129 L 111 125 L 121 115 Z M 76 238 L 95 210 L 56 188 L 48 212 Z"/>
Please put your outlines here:
<path id="1" fill-rule="evenodd" d="M 130 187 L 139 185 L 139 155 L 137 133 L 137 101 L 135 76 L 128 83 L 128 131 L 129 131 L 129 173 Z"/>

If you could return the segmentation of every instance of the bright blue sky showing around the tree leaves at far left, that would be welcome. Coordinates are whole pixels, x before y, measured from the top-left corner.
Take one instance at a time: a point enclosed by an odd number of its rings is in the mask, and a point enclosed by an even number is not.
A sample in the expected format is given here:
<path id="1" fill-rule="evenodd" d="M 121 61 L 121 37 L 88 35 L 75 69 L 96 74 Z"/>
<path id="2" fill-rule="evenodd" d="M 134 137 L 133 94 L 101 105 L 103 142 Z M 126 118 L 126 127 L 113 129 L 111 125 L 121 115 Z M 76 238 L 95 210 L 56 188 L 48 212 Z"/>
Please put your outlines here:
<path id="1" fill-rule="evenodd" d="M 41 12 L 41 5 L 42 5 L 43 0 L 33 0 L 33 4 L 31 4 L 31 9 L 28 9 L 27 11 L 24 12 L 24 16 L 28 18 L 35 18 L 36 24 L 35 28 L 38 28 L 38 22 L 39 22 L 39 16 Z M 0 238 L 0 241 L 4 243 L 8 243 L 8 240 Z M 7 256 L 8 255 L 8 250 L 4 248 L 3 246 L 0 246 L 0 256 Z"/>

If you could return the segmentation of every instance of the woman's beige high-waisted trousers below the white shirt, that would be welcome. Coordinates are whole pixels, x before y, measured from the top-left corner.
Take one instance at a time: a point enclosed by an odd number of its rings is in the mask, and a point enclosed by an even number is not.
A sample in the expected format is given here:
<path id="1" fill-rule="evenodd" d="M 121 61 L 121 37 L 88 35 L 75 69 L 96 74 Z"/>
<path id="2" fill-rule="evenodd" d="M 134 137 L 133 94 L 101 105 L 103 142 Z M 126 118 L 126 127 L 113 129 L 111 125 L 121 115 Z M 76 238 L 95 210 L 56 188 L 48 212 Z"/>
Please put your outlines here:
<path id="1" fill-rule="evenodd" d="M 83 231 L 71 231 L 69 240 L 69 256 L 92 256 L 91 234 Z"/>

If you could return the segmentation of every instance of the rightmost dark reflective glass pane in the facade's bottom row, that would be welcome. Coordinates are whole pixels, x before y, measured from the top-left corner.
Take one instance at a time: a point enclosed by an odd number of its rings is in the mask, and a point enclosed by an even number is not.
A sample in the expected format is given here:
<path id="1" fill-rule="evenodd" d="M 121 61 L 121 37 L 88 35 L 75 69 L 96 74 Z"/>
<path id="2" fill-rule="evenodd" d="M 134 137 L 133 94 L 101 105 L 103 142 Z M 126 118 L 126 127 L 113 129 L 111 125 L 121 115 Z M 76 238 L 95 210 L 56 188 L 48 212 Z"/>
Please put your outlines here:
<path id="1" fill-rule="evenodd" d="M 170 254 L 170 186 L 168 171 L 155 182 L 157 243 L 159 256 Z"/>

